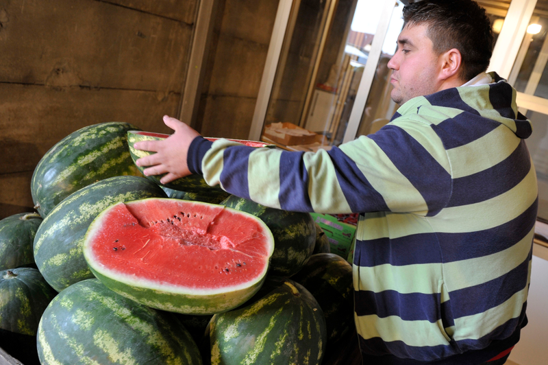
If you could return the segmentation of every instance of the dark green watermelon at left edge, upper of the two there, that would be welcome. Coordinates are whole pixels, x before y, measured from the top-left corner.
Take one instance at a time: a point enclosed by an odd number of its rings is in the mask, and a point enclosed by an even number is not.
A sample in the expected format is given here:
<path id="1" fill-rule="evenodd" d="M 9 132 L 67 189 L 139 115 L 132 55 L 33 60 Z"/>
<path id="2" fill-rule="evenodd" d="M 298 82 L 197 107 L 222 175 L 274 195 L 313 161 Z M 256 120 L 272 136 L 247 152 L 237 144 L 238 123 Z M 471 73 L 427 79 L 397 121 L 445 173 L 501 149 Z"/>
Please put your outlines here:
<path id="1" fill-rule="evenodd" d="M 42 217 L 18 213 L 0 220 L 0 270 L 34 266 L 32 244 Z"/>

